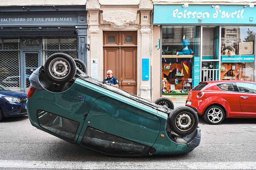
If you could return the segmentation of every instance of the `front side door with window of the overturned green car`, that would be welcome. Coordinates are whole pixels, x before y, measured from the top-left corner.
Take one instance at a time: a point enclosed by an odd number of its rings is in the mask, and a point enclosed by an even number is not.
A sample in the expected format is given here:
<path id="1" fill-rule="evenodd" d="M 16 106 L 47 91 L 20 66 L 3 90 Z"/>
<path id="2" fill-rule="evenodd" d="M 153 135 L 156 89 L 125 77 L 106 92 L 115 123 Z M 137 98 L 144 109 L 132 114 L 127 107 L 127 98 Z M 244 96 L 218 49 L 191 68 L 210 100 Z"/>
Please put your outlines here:
<path id="1" fill-rule="evenodd" d="M 143 108 L 143 104 L 137 105 Z M 156 141 L 160 120 L 138 107 L 99 97 L 90 108 L 77 144 L 111 155 L 145 154 Z"/>

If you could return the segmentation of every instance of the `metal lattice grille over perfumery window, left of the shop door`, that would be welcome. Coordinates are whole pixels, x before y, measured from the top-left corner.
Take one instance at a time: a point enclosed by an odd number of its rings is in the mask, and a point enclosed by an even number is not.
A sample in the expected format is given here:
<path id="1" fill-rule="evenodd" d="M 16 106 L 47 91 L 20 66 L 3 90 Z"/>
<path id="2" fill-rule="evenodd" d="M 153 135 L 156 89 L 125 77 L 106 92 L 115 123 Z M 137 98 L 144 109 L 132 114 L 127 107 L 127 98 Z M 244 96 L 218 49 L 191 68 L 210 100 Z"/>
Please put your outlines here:
<path id="1" fill-rule="evenodd" d="M 19 91 L 19 38 L 0 38 L 0 84 L 14 91 Z"/>

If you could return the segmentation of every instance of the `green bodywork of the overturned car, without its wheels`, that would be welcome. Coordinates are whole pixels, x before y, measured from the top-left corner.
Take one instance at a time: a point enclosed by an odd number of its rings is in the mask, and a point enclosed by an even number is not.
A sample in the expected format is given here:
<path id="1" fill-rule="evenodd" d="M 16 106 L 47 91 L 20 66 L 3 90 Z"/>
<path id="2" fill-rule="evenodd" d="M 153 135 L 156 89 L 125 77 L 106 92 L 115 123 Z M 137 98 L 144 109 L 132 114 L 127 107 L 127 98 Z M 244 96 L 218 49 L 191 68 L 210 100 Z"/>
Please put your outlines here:
<path id="1" fill-rule="evenodd" d="M 115 155 L 83 144 L 88 138 L 95 138 L 85 136 L 88 128 L 102 134 L 113 135 L 113 138 L 122 138 L 128 143 L 134 142 L 133 146 L 143 146 L 143 153 L 134 153 L 134 156 L 191 152 L 194 148 L 188 147 L 187 143 L 178 143 L 168 137 L 168 115 L 149 103 L 145 104 L 134 100 L 133 97 L 125 97 L 112 90 L 106 90 L 95 82 L 76 78 L 73 84 L 62 92 L 52 92 L 45 88 L 36 89 L 27 100 L 27 111 L 31 124 L 38 129 L 98 152 Z M 52 129 L 54 126 L 48 126 L 46 118 L 52 119 L 51 123 L 56 123 L 58 129 L 68 122 L 69 126 L 63 129 L 71 136 L 65 136 L 61 131 L 55 133 Z M 116 142 L 118 141 L 113 139 L 113 145 L 117 144 Z"/>

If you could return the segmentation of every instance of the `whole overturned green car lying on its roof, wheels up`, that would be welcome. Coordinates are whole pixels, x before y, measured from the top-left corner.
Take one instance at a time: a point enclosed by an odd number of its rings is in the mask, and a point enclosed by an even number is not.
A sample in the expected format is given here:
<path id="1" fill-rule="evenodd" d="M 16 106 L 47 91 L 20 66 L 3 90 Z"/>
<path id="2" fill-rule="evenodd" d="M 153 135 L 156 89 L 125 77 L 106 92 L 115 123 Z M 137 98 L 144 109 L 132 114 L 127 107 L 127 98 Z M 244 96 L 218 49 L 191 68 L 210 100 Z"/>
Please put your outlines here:
<path id="1" fill-rule="evenodd" d="M 109 155 L 191 152 L 201 139 L 198 117 L 170 100 L 150 102 L 90 78 L 85 64 L 55 53 L 30 76 L 27 111 L 38 129 Z"/>

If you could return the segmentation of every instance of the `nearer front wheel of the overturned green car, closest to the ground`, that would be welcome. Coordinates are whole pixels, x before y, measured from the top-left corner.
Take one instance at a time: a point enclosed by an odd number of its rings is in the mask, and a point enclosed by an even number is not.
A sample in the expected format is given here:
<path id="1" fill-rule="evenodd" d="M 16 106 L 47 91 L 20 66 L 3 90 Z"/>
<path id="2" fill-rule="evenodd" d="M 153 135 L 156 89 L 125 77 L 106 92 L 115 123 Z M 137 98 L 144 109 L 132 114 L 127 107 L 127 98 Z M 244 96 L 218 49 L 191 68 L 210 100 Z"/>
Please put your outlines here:
<path id="1" fill-rule="evenodd" d="M 188 135 L 197 129 L 198 116 L 187 106 L 176 107 L 169 115 L 170 128 L 178 135 Z"/>

